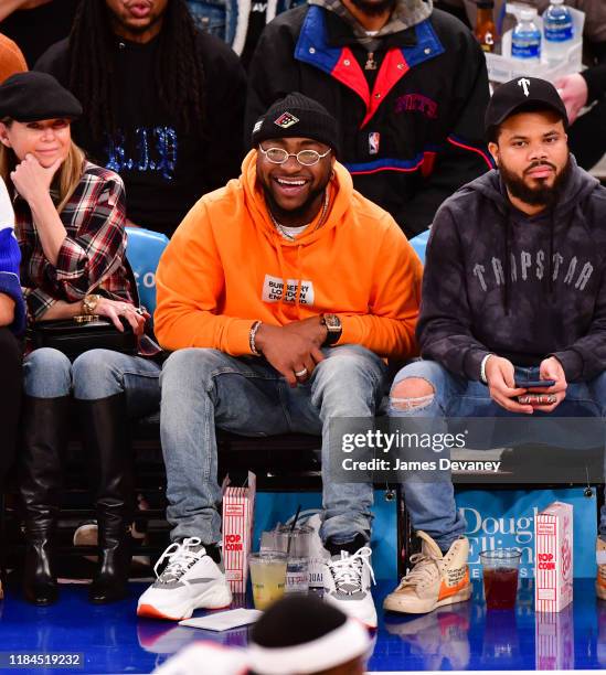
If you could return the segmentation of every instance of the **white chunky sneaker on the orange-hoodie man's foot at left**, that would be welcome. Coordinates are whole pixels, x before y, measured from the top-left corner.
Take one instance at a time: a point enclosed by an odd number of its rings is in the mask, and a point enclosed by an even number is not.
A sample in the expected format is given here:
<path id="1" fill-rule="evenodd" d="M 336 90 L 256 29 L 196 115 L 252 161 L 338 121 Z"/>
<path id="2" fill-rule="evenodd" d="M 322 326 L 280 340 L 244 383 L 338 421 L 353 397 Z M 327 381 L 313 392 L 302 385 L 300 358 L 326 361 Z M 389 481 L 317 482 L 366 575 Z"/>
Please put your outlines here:
<path id="1" fill-rule="evenodd" d="M 167 567 L 158 575 L 167 558 Z M 139 598 L 139 617 L 179 621 L 189 619 L 195 609 L 219 609 L 232 601 L 225 572 L 206 555 L 198 537 L 171 544 L 153 571 L 158 578 Z"/>

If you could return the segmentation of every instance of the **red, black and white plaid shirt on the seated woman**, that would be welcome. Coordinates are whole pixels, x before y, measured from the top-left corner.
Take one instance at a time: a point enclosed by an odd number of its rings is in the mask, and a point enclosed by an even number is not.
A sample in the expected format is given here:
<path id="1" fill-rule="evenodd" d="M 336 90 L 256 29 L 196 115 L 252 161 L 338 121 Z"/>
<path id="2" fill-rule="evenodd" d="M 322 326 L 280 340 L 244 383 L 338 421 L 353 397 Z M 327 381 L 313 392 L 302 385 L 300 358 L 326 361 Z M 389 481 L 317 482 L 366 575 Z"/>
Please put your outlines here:
<path id="1" fill-rule="evenodd" d="M 30 320 L 39 320 L 57 300 L 78 302 L 93 291 L 134 301 L 124 264 L 126 203 L 118 174 L 85 163 L 82 179 L 60 214 L 67 236 L 56 266 L 45 258 L 30 207 L 20 196 L 14 200 L 14 214 Z"/>

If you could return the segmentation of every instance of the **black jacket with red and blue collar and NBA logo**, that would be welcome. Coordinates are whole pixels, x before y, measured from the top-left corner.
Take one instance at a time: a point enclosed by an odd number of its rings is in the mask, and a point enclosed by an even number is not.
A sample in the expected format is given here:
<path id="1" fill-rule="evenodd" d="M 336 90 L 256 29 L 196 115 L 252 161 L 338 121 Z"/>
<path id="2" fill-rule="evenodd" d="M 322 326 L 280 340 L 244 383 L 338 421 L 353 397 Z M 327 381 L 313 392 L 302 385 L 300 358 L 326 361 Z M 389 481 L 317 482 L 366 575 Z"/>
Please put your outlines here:
<path id="1" fill-rule="evenodd" d="M 425 231 L 442 202 L 492 168 L 483 142 L 486 62 L 457 19 L 429 19 L 381 40 L 376 69 L 351 26 L 318 6 L 287 11 L 263 32 L 249 69 L 246 125 L 301 92 L 341 126 L 340 161 L 364 196 L 407 236 Z"/>

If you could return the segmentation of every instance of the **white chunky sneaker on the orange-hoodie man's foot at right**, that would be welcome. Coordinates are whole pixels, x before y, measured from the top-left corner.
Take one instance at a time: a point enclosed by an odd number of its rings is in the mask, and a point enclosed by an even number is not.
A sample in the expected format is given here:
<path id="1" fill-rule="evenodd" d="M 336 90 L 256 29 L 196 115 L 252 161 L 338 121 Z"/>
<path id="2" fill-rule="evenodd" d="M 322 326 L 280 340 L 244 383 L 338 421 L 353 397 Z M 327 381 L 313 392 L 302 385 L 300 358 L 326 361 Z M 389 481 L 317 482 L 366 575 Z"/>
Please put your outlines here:
<path id="1" fill-rule="evenodd" d="M 358 619 L 368 628 L 376 628 L 376 609 L 371 594 L 371 578 L 374 572 L 370 564 L 372 550 L 368 546 L 350 555 L 342 550 L 325 562 L 325 600 L 342 612 Z"/>

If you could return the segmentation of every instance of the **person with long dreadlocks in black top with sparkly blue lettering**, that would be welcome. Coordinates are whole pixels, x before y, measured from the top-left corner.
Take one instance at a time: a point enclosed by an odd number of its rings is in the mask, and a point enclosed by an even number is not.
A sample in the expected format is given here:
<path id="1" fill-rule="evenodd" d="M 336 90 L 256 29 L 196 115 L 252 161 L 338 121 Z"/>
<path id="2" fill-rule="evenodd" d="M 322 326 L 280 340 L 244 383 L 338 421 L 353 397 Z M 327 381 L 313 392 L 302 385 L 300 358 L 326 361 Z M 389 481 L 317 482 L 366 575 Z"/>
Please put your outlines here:
<path id="1" fill-rule="evenodd" d="M 120 174 L 128 219 L 171 236 L 195 201 L 240 173 L 246 81 L 184 0 L 83 0 L 35 69 L 83 103 L 92 160 Z"/>

